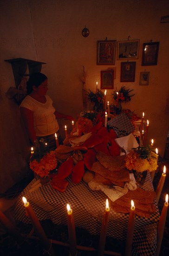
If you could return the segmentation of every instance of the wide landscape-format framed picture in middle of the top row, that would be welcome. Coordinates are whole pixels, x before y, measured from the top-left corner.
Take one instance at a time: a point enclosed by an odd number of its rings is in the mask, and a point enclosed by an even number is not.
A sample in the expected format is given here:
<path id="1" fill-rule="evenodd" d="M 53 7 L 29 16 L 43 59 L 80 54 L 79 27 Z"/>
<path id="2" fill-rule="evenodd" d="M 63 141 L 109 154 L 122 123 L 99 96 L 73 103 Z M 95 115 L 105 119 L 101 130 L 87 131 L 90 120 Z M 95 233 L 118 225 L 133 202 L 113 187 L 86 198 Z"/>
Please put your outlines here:
<path id="1" fill-rule="evenodd" d="M 128 40 L 117 42 L 117 60 L 138 59 L 140 40 Z"/>

